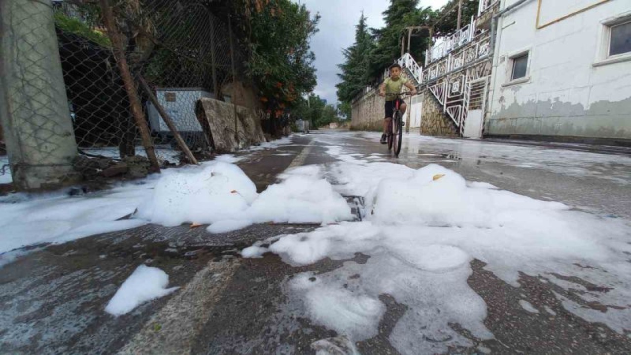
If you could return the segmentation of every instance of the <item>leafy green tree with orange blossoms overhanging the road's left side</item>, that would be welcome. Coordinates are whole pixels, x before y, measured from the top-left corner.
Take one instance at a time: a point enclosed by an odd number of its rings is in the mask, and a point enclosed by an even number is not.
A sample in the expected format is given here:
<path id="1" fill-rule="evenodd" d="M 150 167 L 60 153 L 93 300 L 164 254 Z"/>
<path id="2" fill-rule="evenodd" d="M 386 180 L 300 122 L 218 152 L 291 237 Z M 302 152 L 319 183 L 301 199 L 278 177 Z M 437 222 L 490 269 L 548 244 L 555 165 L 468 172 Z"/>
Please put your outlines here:
<path id="1" fill-rule="evenodd" d="M 247 73 L 264 107 L 278 117 L 315 87 L 309 39 L 317 32 L 320 16 L 290 0 L 239 0 L 233 6 L 242 30 L 240 42 L 249 49 Z"/>

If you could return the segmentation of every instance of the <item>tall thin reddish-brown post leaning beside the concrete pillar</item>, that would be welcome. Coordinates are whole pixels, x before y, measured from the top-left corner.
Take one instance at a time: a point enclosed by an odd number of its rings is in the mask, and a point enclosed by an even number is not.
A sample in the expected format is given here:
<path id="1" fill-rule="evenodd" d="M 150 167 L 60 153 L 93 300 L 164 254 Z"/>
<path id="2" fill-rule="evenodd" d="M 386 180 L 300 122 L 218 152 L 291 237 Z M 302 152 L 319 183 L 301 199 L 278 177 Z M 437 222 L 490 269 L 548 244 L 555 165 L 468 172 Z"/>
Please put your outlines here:
<path id="1" fill-rule="evenodd" d="M 149 134 L 149 127 L 147 121 L 144 119 L 143 107 L 138 98 L 138 92 L 136 91 L 136 85 L 129 72 L 129 66 L 127 66 L 127 59 L 125 58 L 125 51 L 122 45 L 121 33 L 119 33 L 114 20 L 114 14 L 112 8 L 110 8 L 108 0 L 99 0 L 101 4 L 101 11 L 103 13 L 103 20 L 107 27 L 107 35 L 112 41 L 112 49 L 114 50 L 114 58 L 121 71 L 121 78 L 127 91 L 127 97 L 129 97 L 129 104 L 131 105 L 131 113 L 136 121 L 136 126 L 140 131 L 140 136 L 143 140 L 143 147 L 147 153 L 147 158 L 151 163 L 155 172 L 160 172 L 160 164 L 158 163 L 158 157 L 156 157 L 155 147 L 153 147 L 153 141 L 151 141 L 151 135 Z"/>

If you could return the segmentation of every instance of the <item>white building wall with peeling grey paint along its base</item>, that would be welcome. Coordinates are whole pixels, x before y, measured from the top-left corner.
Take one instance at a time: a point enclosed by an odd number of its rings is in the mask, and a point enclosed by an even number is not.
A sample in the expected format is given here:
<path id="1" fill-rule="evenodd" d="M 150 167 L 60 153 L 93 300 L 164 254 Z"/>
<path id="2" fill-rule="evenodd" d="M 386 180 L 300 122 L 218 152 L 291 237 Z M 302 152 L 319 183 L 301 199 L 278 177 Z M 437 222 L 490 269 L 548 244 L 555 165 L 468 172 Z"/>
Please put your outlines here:
<path id="1" fill-rule="evenodd" d="M 516 1 L 503 0 L 501 8 Z M 540 26 L 601 2 L 540 1 Z M 599 63 L 603 21 L 631 16 L 631 0 L 610 0 L 541 29 L 538 3 L 499 20 L 485 134 L 631 139 L 631 56 Z M 510 57 L 523 51 L 526 78 L 509 83 Z"/>

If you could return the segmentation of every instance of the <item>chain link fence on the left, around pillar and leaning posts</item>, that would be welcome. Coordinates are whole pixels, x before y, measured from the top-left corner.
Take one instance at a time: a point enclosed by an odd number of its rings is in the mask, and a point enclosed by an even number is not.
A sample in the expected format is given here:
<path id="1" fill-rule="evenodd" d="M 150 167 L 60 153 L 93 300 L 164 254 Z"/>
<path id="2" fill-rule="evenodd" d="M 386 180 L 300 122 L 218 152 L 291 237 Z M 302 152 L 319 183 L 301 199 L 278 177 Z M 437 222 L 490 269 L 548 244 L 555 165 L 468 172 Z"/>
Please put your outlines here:
<path id="1" fill-rule="evenodd" d="M 32 97 L 30 102 L 16 103 L 32 107 L 23 110 L 26 116 L 20 117 L 19 122 L 13 120 L 12 124 L 19 124 L 20 130 L 32 131 L 37 139 L 28 141 L 35 145 L 33 149 L 49 147 L 44 153 L 57 153 L 56 136 L 66 134 L 76 142 L 80 155 L 87 159 L 124 160 L 134 155 L 146 156 L 138 121 L 134 121 L 132 100 L 117 65 L 120 63 L 116 60 L 112 32 L 103 20 L 103 3 L 112 8 L 124 56 L 136 81 L 144 123 L 149 128 L 160 164 L 177 164 L 183 155 L 150 95 L 155 95 L 187 147 L 199 156 L 211 150 L 211 141 L 195 114 L 198 99 L 209 97 L 231 102 L 239 97 L 243 101 L 244 87 L 253 88 L 251 81 L 245 78 L 246 57 L 230 31 L 230 19 L 213 15 L 209 8 L 212 1 L 52 1 L 52 11 L 45 6 L 30 6 L 42 3 L 36 0 L 10 0 L 9 3 L 20 7 L 15 9 L 20 13 L 19 18 L 13 16 L 12 20 L 18 23 L 11 26 L 27 33 L 26 37 L 17 39 L 21 53 L 16 61 L 20 61 L 20 67 L 28 75 L 21 90 Z M 38 9 L 39 13 L 25 11 L 29 8 Z M 47 38 L 45 33 L 52 30 L 51 15 L 61 63 L 50 63 L 50 52 L 38 52 L 30 40 Z M 37 80 L 46 78 L 39 75 L 41 71 L 60 64 L 65 92 L 50 97 L 50 90 L 38 90 Z M 151 93 L 142 90 L 139 80 L 148 83 Z M 38 95 L 49 97 L 39 99 Z M 62 104 L 51 105 L 52 101 Z M 63 107 L 62 112 L 50 112 L 62 105 L 67 105 L 67 110 Z M 69 115 L 68 119 L 50 119 L 65 115 Z M 6 183 L 10 181 L 11 172 L 8 159 L 2 153 L 0 149 L 0 183 Z M 62 155 L 72 154 L 64 151 Z M 41 160 L 49 164 L 49 159 L 42 157 Z M 62 163 L 71 164 L 67 160 Z M 11 164 L 16 166 L 14 161 Z"/>

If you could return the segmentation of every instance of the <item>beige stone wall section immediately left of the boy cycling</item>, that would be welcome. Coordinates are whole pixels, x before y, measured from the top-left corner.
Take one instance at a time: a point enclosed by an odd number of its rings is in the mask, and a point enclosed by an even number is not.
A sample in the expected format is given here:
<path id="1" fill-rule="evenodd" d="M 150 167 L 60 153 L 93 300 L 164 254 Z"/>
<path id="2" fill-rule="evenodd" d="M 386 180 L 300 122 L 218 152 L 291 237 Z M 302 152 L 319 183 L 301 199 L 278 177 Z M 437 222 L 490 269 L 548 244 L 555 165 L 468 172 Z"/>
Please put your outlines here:
<path id="1" fill-rule="evenodd" d="M 351 129 L 357 131 L 380 131 L 384 124 L 383 97 L 377 90 L 372 90 L 356 102 L 351 111 Z"/>

